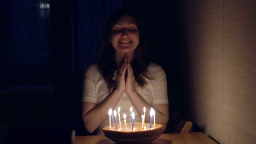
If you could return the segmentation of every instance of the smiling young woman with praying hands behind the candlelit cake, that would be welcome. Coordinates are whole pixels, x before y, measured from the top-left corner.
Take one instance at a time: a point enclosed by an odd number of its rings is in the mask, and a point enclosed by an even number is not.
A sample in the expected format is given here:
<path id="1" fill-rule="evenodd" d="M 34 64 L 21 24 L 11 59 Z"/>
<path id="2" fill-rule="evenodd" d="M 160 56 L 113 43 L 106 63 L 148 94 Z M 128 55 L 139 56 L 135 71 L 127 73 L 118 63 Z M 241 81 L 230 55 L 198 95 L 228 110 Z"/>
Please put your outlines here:
<path id="1" fill-rule="evenodd" d="M 115 11 L 107 22 L 100 46 L 100 59 L 85 73 L 83 121 L 90 133 L 103 135 L 109 124 L 108 111 L 121 108 L 129 121 L 130 107 L 135 121 L 141 122 L 146 107 L 146 122 L 150 122 L 151 107 L 156 123 L 163 130 L 168 123 L 168 97 L 165 71 L 148 61 L 141 23 L 129 10 Z"/>

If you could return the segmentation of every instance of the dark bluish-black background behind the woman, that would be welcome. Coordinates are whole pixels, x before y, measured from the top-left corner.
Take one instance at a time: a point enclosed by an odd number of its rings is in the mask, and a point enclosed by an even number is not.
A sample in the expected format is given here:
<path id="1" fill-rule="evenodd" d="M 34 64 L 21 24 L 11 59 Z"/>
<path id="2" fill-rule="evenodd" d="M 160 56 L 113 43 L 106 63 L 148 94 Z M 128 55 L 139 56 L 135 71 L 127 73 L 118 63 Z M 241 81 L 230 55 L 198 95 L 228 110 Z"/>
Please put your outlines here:
<path id="1" fill-rule="evenodd" d="M 41 3 L 50 3 L 50 9 L 40 9 Z M 77 135 L 88 134 L 81 119 L 83 73 L 96 62 L 104 22 L 120 7 L 131 7 L 143 16 L 150 59 L 167 75 L 170 113 L 186 118 L 178 2 L 3 0 L 0 143 L 28 135 L 68 139 L 72 129 Z"/>

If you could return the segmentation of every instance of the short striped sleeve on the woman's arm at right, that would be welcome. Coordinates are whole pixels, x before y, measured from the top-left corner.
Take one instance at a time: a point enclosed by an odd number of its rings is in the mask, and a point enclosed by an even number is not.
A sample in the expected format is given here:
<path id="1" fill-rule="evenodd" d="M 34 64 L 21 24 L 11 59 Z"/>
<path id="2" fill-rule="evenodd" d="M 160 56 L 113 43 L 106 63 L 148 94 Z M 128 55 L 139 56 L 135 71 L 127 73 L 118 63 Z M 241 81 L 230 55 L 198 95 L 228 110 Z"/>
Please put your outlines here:
<path id="1" fill-rule="evenodd" d="M 158 81 L 156 83 L 152 105 L 168 104 L 166 74 L 160 66 L 158 67 L 157 75 Z"/>

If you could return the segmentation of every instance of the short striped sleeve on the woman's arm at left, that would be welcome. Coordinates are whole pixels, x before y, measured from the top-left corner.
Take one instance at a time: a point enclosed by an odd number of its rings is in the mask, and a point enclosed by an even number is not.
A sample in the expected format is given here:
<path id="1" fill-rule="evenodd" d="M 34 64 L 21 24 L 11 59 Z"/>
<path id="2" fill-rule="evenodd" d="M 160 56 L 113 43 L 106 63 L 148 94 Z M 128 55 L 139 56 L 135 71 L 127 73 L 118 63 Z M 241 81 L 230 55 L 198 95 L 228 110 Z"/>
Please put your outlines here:
<path id="1" fill-rule="evenodd" d="M 82 102 L 89 101 L 97 104 L 97 94 L 94 82 L 95 70 L 97 70 L 97 65 L 91 65 L 85 72 Z"/>

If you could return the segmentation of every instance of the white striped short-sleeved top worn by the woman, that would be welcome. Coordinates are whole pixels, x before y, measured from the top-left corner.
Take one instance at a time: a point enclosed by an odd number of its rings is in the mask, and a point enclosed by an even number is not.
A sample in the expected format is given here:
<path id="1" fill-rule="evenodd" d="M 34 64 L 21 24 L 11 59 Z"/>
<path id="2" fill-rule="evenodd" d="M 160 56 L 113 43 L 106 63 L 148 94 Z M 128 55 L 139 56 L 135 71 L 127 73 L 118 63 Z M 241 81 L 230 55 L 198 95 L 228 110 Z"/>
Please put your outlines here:
<path id="1" fill-rule="evenodd" d="M 158 64 L 149 63 L 148 65 L 147 76 L 151 79 L 146 79 L 147 85 L 143 88 L 139 87 L 137 83 L 135 84 L 136 92 L 141 95 L 141 97 L 147 101 L 149 105 L 157 105 L 157 104 L 168 104 L 168 96 L 167 96 L 167 82 L 166 82 L 166 74 L 165 71 Z M 115 80 L 116 72 L 114 74 L 113 80 Z M 100 74 L 100 71 L 97 69 L 97 65 L 91 65 L 85 72 L 84 77 L 84 92 L 83 92 L 83 100 L 89 101 L 95 104 L 100 104 L 107 96 L 108 88 L 107 83 L 104 81 L 103 76 Z M 114 110 L 118 112 L 118 107 L 120 106 L 120 118 L 121 122 L 124 122 L 123 115 L 126 114 L 126 122 L 130 122 L 130 107 L 132 105 L 129 97 L 126 93 L 122 95 L 117 106 Z M 113 110 L 113 112 L 114 112 Z M 150 110 L 146 110 L 146 116 Z M 135 122 L 141 122 L 141 116 L 136 111 L 135 107 L 133 107 L 133 112 L 135 112 Z M 141 110 L 143 112 L 143 109 Z M 108 113 L 106 113 L 108 116 Z M 156 116 L 157 117 L 157 116 Z M 115 120 L 115 118 L 114 118 Z M 111 119 L 112 121 L 112 119 Z M 117 121 L 119 123 L 119 118 L 117 115 Z M 113 122 L 112 122 L 113 123 Z M 96 129 L 97 135 L 104 135 L 102 132 L 102 128 L 109 125 L 109 118 L 106 119 L 102 125 Z"/>

